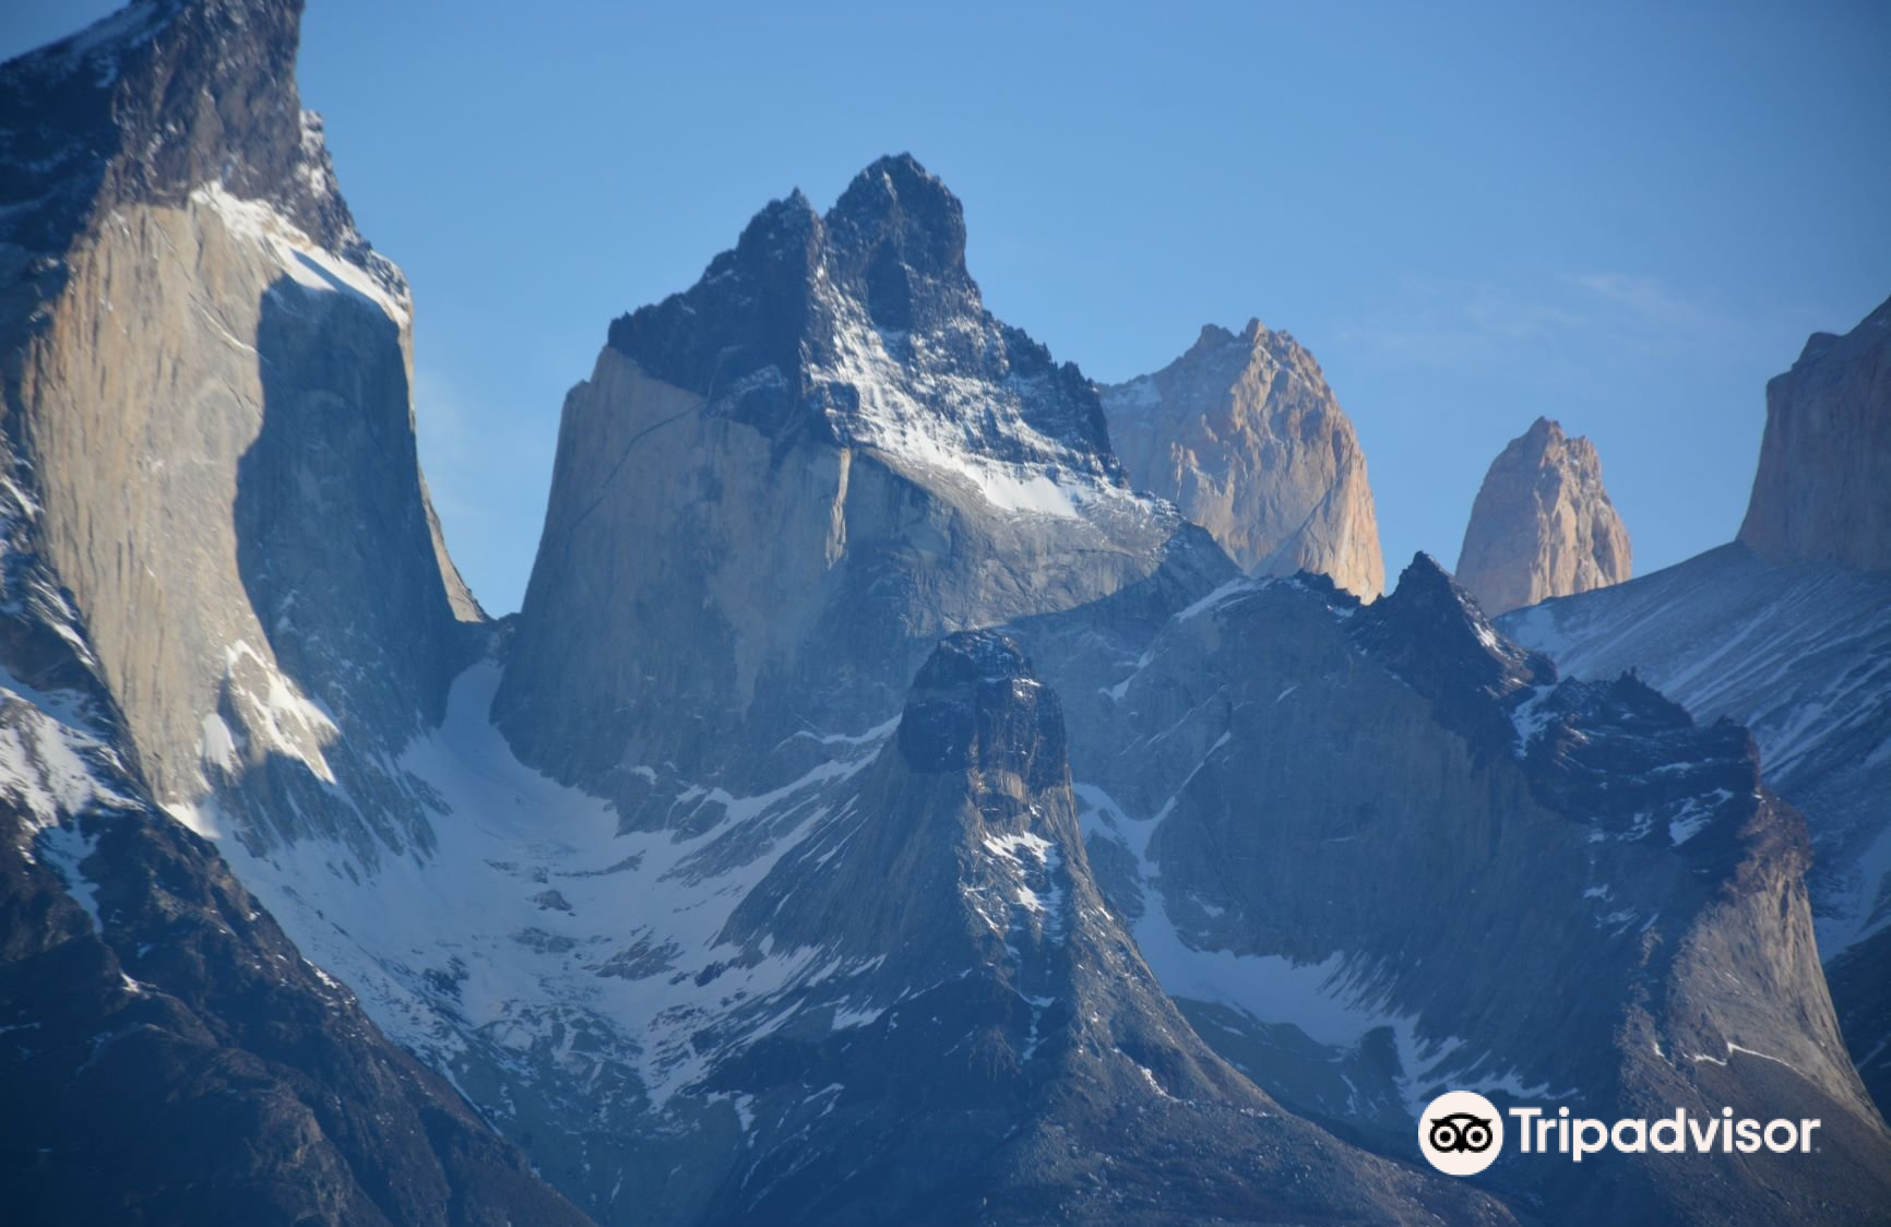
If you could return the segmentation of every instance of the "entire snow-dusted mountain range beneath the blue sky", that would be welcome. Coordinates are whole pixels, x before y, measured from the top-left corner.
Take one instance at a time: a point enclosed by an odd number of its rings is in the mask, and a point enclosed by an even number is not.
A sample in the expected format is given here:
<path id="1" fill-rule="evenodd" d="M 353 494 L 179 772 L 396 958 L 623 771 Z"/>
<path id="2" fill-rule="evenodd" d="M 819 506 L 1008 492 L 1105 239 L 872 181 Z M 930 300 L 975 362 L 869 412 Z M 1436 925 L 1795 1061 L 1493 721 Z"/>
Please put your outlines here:
<path id="1" fill-rule="evenodd" d="M 1292 337 L 1101 388 L 885 157 L 609 321 L 494 620 L 299 17 L 0 68 L 9 1208 L 1885 1218 L 1883 560 L 1802 527 L 1882 507 L 1882 323 L 1776 382 L 1747 544 L 1492 622 L 1380 594 Z M 1460 1182 L 1445 1089 L 1821 1146 Z"/>

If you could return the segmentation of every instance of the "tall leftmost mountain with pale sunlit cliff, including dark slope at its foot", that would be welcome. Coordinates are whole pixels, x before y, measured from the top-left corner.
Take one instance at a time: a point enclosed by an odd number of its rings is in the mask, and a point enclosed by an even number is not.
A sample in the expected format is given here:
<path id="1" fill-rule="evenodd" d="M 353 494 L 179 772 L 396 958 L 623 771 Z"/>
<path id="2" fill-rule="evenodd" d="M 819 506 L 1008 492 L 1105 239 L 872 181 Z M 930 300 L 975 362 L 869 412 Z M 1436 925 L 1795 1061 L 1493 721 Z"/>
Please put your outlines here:
<path id="1" fill-rule="evenodd" d="M 136 4 L 0 68 L 0 1201 L 582 1223 L 165 811 L 427 843 L 386 754 L 471 647 L 299 15 Z"/>

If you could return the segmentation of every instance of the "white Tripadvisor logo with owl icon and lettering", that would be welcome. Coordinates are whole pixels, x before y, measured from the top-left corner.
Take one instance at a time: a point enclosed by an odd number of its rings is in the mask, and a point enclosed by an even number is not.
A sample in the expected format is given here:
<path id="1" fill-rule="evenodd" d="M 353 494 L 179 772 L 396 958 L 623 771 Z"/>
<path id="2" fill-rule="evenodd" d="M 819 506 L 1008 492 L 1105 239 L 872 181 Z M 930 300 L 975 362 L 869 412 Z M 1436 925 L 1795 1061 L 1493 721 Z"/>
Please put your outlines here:
<path id="1" fill-rule="evenodd" d="M 1571 1163 L 1611 1148 L 1630 1155 L 1753 1155 L 1764 1146 L 1776 1155 L 1804 1155 L 1819 1129 L 1819 1121 L 1734 1119 L 1732 1108 L 1706 1117 L 1675 1108 L 1674 1115 L 1655 1121 L 1622 1119 L 1613 1125 L 1571 1117 L 1568 1108 L 1558 1108 L 1556 1115 L 1547 1115 L 1541 1108 L 1511 1108 L 1509 1115 L 1517 1125 L 1517 1153 L 1568 1155 Z M 1475 1176 L 1503 1151 L 1503 1114 L 1475 1091 L 1447 1091 L 1418 1115 L 1418 1149 L 1449 1176 Z"/>

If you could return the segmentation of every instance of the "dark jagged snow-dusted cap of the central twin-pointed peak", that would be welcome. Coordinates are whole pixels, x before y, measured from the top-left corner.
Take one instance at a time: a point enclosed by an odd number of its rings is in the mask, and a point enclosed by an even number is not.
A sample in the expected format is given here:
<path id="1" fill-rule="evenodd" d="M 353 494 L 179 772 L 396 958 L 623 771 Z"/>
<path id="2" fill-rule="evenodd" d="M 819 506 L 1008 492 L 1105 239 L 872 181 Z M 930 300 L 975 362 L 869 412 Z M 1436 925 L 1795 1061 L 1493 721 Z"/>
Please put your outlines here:
<path id="1" fill-rule="evenodd" d="M 855 176 L 826 216 L 800 191 L 770 202 L 696 285 L 615 320 L 609 344 L 773 439 L 1123 484 L 1097 393 L 991 318 L 959 199 L 908 153 Z"/>

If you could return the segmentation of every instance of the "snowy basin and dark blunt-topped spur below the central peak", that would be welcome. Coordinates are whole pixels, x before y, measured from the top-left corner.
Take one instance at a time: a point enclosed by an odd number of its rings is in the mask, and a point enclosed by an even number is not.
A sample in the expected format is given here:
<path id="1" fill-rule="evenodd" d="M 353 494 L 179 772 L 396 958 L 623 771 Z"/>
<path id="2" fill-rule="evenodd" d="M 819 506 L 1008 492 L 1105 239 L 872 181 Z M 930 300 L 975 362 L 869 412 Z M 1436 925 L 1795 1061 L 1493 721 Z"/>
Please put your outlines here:
<path id="1" fill-rule="evenodd" d="M 495 675 L 420 747 L 433 862 L 289 877 L 286 915 L 599 1221 L 1503 1219 L 1193 1036 L 1004 637 L 947 639 L 889 726 L 677 830 L 516 764 Z"/>

